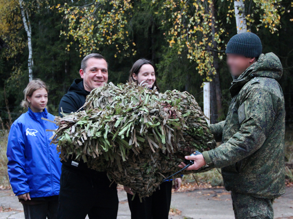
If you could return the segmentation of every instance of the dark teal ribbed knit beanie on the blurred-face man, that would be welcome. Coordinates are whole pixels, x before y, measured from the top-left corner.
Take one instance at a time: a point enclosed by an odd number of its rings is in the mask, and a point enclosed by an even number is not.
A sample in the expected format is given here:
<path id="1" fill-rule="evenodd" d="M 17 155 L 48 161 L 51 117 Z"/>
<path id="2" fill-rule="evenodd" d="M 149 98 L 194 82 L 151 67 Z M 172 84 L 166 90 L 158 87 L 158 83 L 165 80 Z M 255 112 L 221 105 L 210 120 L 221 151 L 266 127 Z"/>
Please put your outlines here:
<path id="1" fill-rule="evenodd" d="M 241 54 L 246 57 L 259 57 L 262 54 L 262 42 L 251 32 L 239 33 L 229 40 L 226 54 Z"/>

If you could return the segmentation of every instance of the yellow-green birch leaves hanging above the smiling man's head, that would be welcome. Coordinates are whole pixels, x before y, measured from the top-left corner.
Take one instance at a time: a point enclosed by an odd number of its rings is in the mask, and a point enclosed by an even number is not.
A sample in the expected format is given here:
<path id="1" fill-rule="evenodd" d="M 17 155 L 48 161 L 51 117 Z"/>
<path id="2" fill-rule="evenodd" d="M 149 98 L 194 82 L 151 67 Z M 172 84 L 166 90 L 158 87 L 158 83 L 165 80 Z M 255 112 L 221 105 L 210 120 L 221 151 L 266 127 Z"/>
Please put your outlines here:
<path id="1" fill-rule="evenodd" d="M 115 44 L 118 53 L 129 49 L 131 41 L 126 38 L 129 33 L 124 27 L 128 23 L 127 16 L 132 13 L 130 0 L 95 0 L 89 4 L 79 1 L 77 5 L 58 4 L 56 8 L 65 14 L 68 21 L 68 30 L 61 31 L 61 35 L 78 40 L 82 56 L 99 50 L 100 44 Z M 68 51 L 71 44 L 72 42 L 67 45 Z M 132 50 L 132 54 L 135 53 Z M 125 55 L 129 55 L 129 52 Z"/>

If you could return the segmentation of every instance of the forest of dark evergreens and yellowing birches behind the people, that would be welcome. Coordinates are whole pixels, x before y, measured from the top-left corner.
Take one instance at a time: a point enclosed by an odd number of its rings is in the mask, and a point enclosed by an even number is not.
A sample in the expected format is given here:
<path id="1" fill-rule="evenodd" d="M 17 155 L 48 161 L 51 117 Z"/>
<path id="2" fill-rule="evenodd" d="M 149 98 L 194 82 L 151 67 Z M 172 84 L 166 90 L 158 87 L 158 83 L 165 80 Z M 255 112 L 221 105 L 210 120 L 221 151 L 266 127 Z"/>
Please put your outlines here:
<path id="1" fill-rule="evenodd" d="M 147 58 L 161 91 L 190 92 L 201 107 L 202 83 L 209 81 L 211 123 L 224 120 L 232 82 L 225 49 L 243 24 L 260 37 L 263 53 L 280 58 L 286 126 L 293 124 L 293 1 L 0 0 L 0 15 L 9 47 L 0 51 L 0 129 L 26 112 L 20 102 L 31 78 L 49 85 L 49 112 L 57 115 L 89 53 L 107 59 L 114 84 L 125 83 L 132 64 Z"/>

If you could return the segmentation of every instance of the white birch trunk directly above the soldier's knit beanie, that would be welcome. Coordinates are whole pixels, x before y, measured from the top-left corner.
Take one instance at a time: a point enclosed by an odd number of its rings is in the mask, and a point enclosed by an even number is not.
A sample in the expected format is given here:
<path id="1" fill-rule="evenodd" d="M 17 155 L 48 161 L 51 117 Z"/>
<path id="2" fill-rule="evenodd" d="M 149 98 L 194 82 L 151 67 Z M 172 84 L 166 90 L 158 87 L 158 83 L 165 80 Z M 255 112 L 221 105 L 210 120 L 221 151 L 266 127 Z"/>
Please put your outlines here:
<path id="1" fill-rule="evenodd" d="M 243 0 L 234 0 L 237 33 L 247 32 L 245 5 Z"/>

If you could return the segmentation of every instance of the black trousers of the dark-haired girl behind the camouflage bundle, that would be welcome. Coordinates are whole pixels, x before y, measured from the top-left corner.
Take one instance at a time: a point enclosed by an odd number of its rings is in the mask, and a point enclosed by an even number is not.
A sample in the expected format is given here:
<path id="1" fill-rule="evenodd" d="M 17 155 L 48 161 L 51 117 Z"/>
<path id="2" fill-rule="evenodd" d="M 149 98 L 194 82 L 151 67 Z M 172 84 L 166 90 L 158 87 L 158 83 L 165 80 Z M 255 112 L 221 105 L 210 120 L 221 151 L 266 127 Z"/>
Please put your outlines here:
<path id="1" fill-rule="evenodd" d="M 151 196 L 142 198 L 143 202 L 137 195 L 131 200 L 133 196 L 127 193 L 131 219 L 168 219 L 171 195 L 172 181 L 163 182 Z"/>

